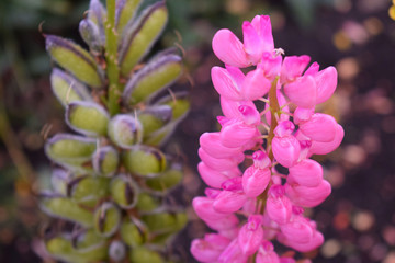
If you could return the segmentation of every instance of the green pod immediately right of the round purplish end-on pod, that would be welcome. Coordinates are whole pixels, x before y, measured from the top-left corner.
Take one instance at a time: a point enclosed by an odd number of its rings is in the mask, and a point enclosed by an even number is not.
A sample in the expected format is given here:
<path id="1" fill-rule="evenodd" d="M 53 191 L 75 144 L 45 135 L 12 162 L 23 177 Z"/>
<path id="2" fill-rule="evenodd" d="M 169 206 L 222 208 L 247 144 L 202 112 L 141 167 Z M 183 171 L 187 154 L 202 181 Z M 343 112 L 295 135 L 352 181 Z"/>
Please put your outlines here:
<path id="1" fill-rule="evenodd" d="M 138 113 L 138 121 L 143 125 L 144 137 L 147 138 L 155 130 L 160 129 L 171 119 L 171 107 L 168 105 L 149 106 Z"/>

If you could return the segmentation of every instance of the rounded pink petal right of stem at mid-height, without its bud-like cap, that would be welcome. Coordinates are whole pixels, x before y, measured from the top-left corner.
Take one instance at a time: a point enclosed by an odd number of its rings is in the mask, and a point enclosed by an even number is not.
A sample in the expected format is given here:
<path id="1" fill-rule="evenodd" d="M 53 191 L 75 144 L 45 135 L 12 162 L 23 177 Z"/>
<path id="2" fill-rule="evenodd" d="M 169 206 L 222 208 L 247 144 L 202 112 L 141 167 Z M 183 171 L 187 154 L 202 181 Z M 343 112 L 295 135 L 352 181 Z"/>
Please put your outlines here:
<path id="1" fill-rule="evenodd" d="M 272 150 L 275 160 L 283 167 L 290 168 L 296 164 L 301 145 L 294 136 L 274 137 L 272 140 Z"/>

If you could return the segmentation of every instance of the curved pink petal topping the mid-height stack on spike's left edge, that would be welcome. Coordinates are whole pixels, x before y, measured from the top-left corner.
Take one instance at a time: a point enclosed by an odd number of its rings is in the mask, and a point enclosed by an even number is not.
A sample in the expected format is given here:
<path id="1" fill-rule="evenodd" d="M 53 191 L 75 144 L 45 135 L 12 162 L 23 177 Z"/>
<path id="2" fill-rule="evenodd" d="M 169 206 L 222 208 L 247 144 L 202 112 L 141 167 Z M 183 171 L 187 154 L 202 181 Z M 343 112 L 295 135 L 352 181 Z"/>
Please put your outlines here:
<path id="1" fill-rule="evenodd" d="M 215 158 L 233 158 L 242 155 L 241 148 L 228 148 L 221 144 L 219 133 L 204 133 L 200 137 L 200 145 L 205 152 Z M 242 157 L 244 159 L 244 157 Z"/>

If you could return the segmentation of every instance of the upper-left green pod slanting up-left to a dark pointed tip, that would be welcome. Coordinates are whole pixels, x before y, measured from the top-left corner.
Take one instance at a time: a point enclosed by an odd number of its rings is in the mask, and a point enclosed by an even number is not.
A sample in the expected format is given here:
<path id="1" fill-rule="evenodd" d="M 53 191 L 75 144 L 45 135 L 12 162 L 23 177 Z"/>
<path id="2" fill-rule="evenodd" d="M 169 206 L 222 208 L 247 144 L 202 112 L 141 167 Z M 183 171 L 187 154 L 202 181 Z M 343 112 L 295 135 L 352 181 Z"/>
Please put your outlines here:
<path id="1" fill-rule="evenodd" d="M 93 88 L 102 87 L 103 72 L 81 46 L 54 35 L 47 35 L 45 44 L 50 57 L 77 79 Z"/>

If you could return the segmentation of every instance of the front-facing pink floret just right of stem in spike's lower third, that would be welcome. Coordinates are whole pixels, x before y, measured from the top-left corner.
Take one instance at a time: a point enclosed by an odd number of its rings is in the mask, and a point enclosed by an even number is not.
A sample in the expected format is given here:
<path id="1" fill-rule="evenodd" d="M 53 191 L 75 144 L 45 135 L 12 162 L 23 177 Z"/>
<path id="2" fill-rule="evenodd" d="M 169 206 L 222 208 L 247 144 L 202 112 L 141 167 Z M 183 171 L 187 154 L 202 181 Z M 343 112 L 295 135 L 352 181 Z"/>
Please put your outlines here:
<path id="1" fill-rule="evenodd" d="M 279 225 L 290 221 L 292 203 L 285 195 L 284 186 L 273 185 L 270 187 L 267 199 L 267 213 Z"/>

